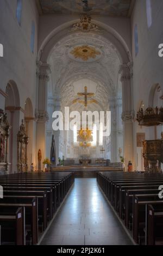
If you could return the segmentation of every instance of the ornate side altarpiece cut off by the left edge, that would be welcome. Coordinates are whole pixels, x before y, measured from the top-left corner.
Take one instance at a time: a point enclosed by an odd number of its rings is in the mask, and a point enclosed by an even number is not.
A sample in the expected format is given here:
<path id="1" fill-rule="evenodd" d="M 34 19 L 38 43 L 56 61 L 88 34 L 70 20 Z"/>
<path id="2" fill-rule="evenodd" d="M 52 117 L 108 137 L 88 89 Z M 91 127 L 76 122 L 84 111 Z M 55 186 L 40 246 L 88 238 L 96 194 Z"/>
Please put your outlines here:
<path id="1" fill-rule="evenodd" d="M 8 174 L 8 139 L 9 139 L 9 123 L 7 114 L 0 109 L 0 174 Z"/>

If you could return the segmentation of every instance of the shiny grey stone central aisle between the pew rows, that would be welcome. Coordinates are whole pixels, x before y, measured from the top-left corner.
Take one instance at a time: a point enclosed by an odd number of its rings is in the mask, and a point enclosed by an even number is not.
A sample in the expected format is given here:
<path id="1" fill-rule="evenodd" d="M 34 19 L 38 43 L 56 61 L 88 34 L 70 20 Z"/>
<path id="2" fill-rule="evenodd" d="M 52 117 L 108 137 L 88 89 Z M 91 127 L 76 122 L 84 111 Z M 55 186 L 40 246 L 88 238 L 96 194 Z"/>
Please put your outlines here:
<path id="1" fill-rule="evenodd" d="M 96 179 L 76 179 L 41 245 L 131 245 Z"/>

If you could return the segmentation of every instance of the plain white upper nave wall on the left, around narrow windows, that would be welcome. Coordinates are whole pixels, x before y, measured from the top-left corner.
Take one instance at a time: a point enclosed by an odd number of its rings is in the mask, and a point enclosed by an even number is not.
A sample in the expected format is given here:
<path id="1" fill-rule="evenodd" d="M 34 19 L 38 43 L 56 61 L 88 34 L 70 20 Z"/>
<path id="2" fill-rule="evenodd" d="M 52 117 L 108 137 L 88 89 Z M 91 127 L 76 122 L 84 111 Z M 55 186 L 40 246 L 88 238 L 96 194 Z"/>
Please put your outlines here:
<path id="1" fill-rule="evenodd" d="M 21 26 L 16 19 L 17 0 L 1 0 L 0 39 L 4 57 L 0 58 L 0 89 L 5 92 L 9 80 L 14 80 L 21 95 L 21 107 L 29 97 L 35 107 L 37 33 L 39 16 L 33 0 L 23 0 Z M 32 21 L 35 22 L 35 51 L 30 51 Z M 2 96 L 1 96 L 2 99 Z M 4 100 L 1 103 L 4 108 Z"/>

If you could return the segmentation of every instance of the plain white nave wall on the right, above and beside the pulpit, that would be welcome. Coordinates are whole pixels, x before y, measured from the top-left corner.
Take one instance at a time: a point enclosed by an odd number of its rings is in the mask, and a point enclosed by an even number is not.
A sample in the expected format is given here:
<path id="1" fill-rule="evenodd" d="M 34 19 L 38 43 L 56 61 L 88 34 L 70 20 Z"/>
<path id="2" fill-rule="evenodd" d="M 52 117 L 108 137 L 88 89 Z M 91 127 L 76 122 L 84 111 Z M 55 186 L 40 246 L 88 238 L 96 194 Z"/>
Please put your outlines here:
<path id="1" fill-rule="evenodd" d="M 163 1 L 151 0 L 152 26 L 147 26 L 146 0 L 136 0 L 133 15 L 131 17 L 132 52 L 133 52 L 133 95 L 135 114 L 143 101 L 146 109 L 149 105 L 149 93 L 154 84 L 159 83 L 163 87 L 162 66 L 163 58 L 158 56 L 158 46 L 163 43 Z M 139 53 L 135 57 L 134 27 L 137 24 L 139 36 Z M 135 121 L 135 145 L 136 132 L 146 132 L 146 139 L 154 139 L 154 127 L 140 127 Z M 158 135 L 160 138 L 160 135 Z M 135 150 L 137 168 L 142 166 L 141 149 Z"/>

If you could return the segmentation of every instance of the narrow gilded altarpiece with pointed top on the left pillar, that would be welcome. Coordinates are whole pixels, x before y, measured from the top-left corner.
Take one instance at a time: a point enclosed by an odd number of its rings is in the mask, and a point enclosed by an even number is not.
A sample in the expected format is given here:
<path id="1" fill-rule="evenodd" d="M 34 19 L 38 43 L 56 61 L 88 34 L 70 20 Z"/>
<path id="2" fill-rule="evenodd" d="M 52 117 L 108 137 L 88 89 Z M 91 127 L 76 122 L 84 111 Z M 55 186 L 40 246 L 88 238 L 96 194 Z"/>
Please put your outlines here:
<path id="1" fill-rule="evenodd" d="M 24 126 L 24 121 L 20 126 L 20 130 L 17 133 L 17 169 L 18 172 L 27 172 L 27 145 L 28 136 L 26 135 L 26 129 Z"/>

